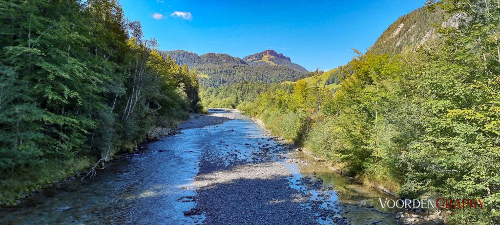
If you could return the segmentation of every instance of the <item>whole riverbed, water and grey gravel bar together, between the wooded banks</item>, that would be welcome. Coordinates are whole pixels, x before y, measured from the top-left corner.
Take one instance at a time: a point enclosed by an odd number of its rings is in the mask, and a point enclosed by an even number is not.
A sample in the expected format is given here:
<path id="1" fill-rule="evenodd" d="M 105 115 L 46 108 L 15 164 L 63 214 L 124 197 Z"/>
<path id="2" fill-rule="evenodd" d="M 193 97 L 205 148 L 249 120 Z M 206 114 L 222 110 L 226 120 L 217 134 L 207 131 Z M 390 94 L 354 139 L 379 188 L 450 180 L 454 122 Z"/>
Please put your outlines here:
<path id="1" fill-rule="evenodd" d="M 3 208 L 0 224 L 397 224 L 354 183 L 235 110 L 210 109 L 91 178 Z"/>

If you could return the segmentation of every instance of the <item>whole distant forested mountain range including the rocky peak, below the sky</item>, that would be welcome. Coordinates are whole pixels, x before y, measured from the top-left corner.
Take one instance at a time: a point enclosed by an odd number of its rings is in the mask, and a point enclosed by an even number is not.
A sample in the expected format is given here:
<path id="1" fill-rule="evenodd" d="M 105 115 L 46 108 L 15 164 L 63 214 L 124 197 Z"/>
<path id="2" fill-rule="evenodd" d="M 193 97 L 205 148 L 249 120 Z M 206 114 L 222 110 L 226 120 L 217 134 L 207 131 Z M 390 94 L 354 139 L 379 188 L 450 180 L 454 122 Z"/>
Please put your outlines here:
<path id="1" fill-rule="evenodd" d="M 220 86 L 239 81 L 281 82 L 294 77 L 306 77 L 302 66 L 291 62 L 289 57 L 274 50 L 251 54 L 243 59 L 222 53 L 197 55 L 185 50 L 162 51 L 179 64 L 197 69 L 202 75 L 199 82 L 204 86 Z"/>

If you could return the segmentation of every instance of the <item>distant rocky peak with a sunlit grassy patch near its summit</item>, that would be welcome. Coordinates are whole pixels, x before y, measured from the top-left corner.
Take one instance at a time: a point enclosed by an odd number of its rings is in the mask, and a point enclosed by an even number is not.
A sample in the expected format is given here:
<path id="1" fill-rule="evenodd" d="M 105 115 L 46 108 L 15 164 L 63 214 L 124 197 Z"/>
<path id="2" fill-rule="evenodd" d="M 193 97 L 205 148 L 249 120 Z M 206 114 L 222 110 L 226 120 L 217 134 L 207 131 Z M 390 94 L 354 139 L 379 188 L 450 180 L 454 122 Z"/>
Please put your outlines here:
<path id="1" fill-rule="evenodd" d="M 245 56 L 243 60 L 249 65 L 286 65 L 290 68 L 294 68 L 299 71 L 307 72 L 307 69 L 291 62 L 289 57 L 284 56 L 281 53 L 277 53 L 274 50 L 265 50 L 256 54 L 250 54 Z"/>

